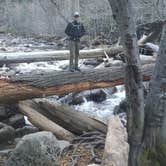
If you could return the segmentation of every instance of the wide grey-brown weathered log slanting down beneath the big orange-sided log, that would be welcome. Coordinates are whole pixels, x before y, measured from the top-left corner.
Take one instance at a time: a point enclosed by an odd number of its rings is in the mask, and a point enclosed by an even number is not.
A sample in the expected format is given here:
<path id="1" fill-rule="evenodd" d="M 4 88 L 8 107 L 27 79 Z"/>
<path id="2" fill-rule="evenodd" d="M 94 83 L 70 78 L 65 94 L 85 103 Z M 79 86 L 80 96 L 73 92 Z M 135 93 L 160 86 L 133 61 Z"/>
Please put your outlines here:
<path id="1" fill-rule="evenodd" d="M 100 131 L 102 133 L 107 131 L 105 122 L 76 111 L 68 105 L 52 103 L 45 99 L 25 102 L 40 114 L 74 134 L 82 134 L 84 131 Z"/>

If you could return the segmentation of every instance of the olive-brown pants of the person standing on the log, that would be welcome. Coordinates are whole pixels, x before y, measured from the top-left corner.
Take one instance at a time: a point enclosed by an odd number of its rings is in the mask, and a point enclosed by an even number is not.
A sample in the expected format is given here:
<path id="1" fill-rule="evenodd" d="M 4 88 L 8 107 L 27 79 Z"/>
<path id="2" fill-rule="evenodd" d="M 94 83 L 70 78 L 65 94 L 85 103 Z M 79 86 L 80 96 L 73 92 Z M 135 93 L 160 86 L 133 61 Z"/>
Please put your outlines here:
<path id="1" fill-rule="evenodd" d="M 78 69 L 79 46 L 79 41 L 70 41 L 70 69 Z"/>

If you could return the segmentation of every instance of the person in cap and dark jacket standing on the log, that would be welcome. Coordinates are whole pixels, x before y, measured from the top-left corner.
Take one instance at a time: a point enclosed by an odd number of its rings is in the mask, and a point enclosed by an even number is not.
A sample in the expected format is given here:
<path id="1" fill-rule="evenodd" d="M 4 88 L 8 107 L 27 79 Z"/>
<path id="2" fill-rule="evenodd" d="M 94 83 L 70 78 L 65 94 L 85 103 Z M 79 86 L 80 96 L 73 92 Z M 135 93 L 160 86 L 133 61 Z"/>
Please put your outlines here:
<path id="1" fill-rule="evenodd" d="M 80 71 L 78 68 L 79 46 L 80 38 L 85 35 L 85 29 L 83 24 L 79 21 L 79 18 L 80 14 L 75 12 L 73 15 L 73 21 L 70 22 L 65 29 L 65 33 L 69 36 L 70 41 L 69 70 L 71 72 Z"/>

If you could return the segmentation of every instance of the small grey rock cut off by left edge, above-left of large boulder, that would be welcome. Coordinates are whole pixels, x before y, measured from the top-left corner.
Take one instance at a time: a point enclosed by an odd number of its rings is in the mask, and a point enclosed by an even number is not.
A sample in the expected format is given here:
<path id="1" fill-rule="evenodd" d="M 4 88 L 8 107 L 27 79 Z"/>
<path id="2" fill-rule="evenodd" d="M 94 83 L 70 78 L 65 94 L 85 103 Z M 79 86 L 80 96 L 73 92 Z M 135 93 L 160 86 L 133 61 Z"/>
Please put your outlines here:
<path id="1" fill-rule="evenodd" d="M 13 140 L 15 137 L 15 130 L 13 127 L 4 123 L 0 123 L 0 143 Z"/>

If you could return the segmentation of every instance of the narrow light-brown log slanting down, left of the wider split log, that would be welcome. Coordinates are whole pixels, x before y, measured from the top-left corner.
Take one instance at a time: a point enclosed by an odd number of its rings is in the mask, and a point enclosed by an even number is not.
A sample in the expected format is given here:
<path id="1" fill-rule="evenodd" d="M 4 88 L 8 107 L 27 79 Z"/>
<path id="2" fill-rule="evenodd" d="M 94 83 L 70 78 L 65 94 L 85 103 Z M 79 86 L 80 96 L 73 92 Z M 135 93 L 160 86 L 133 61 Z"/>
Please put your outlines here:
<path id="1" fill-rule="evenodd" d="M 71 132 L 65 130 L 61 126 L 35 111 L 26 101 L 19 102 L 18 107 L 20 112 L 27 116 L 29 121 L 35 127 L 45 131 L 51 131 L 59 139 L 71 141 L 74 138 L 74 135 Z"/>

